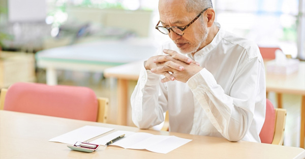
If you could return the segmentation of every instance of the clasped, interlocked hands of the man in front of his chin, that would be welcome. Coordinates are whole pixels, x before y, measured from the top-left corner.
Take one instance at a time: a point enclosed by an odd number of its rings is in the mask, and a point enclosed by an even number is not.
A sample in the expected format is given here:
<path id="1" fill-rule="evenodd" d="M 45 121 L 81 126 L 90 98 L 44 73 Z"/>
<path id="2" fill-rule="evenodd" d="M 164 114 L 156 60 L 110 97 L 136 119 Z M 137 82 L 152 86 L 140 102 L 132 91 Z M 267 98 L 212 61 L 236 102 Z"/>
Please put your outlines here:
<path id="1" fill-rule="evenodd" d="M 151 57 L 144 64 L 146 70 L 163 74 L 165 76 L 161 80 L 163 83 L 174 80 L 186 83 L 202 69 L 198 62 L 180 55 L 174 50 L 164 49 L 163 52 L 167 55 Z"/>

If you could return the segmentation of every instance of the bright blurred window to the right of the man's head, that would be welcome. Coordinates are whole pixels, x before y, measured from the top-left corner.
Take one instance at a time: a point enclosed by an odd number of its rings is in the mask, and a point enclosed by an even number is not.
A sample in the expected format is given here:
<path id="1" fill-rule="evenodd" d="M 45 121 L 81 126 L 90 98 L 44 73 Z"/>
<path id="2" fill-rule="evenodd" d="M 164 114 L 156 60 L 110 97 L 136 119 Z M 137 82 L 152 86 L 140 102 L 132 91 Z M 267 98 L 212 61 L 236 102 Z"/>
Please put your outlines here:
<path id="1" fill-rule="evenodd" d="M 279 46 L 292 58 L 298 56 L 298 0 L 215 0 L 214 8 L 216 21 L 225 30 L 259 46 Z"/>

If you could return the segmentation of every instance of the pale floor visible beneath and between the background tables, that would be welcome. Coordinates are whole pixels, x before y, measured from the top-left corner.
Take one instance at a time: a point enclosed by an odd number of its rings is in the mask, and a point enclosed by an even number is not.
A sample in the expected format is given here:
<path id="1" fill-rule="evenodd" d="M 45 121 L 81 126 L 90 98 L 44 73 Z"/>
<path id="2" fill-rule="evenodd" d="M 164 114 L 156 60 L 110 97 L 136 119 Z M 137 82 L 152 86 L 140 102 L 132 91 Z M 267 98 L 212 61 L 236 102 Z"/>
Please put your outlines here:
<path id="1" fill-rule="evenodd" d="M 45 83 L 44 71 L 38 71 L 38 82 Z M 88 72 L 73 72 L 73 71 L 58 71 L 58 84 L 59 85 L 76 85 L 85 86 L 93 89 L 97 96 L 108 97 L 110 100 L 110 108 L 108 109 L 108 123 L 116 123 L 116 81 L 103 78 L 101 73 L 88 73 Z M 136 82 L 129 83 L 129 96 L 131 95 Z M 273 105 L 277 107 L 276 94 L 270 92 L 268 98 Z M 299 130 L 300 130 L 300 105 L 301 96 L 283 94 L 283 108 L 287 110 L 287 119 L 285 127 L 285 146 L 299 146 Z M 131 121 L 130 103 L 129 103 L 129 116 L 128 125 L 134 126 Z"/>

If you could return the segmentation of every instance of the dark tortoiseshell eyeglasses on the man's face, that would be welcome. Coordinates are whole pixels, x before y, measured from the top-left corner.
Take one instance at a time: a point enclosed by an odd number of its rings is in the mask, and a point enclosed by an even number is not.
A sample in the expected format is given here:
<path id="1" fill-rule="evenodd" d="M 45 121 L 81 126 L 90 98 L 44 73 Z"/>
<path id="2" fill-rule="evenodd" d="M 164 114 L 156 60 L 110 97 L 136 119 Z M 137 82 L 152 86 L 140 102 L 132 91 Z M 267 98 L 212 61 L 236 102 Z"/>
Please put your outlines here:
<path id="1" fill-rule="evenodd" d="M 159 22 L 157 23 L 157 25 L 155 26 L 155 28 L 160 31 L 161 33 L 165 34 L 165 35 L 168 35 L 170 33 L 170 30 L 172 30 L 174 33 L 176 33 L 177 35 L 184 35 L 184 30 L 186 30 L 195 20 L 197 20 L 200 15 L 206 11 L 208 8 L 205 8 L 202 12 L 200 12 L 195 19 L 193 19 L 189 24 L 187 24 L 184 28 L 181 28 L 179 26 L 171 26 L 171 27 L 166 27 L 166 26 L 158 26 L 159 23 L 160 23 L 160 20 Z"/>

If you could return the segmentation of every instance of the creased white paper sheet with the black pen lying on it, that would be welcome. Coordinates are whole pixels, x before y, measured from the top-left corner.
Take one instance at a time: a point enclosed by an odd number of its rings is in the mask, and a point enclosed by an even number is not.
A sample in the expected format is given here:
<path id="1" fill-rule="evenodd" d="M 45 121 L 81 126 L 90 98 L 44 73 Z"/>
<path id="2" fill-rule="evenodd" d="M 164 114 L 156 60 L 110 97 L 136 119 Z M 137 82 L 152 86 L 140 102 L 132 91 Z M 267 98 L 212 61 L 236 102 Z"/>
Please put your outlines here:
<path id="1" fill-rule="evenodd" d="M 149 133 L 134 133 L 132 131 L 115 131 L 105 137 L 90 143 L 105 145 L 110 140 L 125 134 L 125 137 L 111 145 L 129 149 L 146 149 L 157 153 L 168 153 L 192 140 L 175 136 L 153 135 Z"/>

